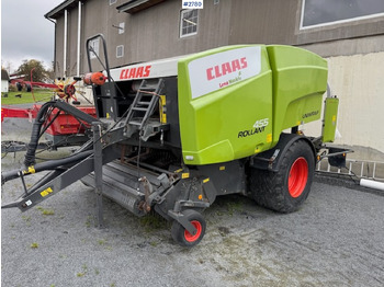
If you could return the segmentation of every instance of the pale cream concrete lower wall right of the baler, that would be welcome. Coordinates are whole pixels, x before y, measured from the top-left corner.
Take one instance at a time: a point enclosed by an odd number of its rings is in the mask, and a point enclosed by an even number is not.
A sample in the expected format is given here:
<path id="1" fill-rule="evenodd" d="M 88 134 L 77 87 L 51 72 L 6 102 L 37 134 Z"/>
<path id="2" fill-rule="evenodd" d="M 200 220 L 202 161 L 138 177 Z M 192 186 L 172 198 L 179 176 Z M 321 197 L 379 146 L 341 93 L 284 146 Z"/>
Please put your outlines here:
<path id="1" fill-rule="evenodd" d="M 353 158 L 384 161 L 384 51 L 327 60 L 332 94 L 340 99 L 340 135 L 335 144 L 352 146 L 358 151 Z M 312 123 L 304 131 L 318 136 L 321 128 L 319 123 Z"/>

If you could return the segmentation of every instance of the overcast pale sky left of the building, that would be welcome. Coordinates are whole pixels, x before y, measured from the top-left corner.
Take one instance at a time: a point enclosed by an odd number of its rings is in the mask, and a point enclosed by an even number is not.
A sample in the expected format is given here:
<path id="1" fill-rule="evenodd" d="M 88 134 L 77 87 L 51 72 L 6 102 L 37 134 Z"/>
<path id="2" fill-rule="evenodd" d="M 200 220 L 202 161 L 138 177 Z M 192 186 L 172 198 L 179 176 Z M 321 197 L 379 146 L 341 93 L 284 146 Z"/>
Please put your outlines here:
<path id="1" fill-rule="evenodd" d="M 1 65 L 14 71 L 24 59 L 54 60 L 55 24 L 44 14 L 65 0 L 1 0 Z"/>

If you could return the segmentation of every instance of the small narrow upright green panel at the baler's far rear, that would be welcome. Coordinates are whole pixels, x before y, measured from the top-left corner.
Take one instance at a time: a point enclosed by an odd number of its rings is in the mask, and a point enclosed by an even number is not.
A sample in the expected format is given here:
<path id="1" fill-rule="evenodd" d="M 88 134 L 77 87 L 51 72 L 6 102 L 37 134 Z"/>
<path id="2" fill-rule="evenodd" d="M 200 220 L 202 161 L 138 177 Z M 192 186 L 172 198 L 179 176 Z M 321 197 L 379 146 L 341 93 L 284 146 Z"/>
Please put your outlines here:
<path id="1" fill-rule="evenodd" d="M 324 112 L 323 142 L 335 140 L 339 99 L 327 97 Z"/>

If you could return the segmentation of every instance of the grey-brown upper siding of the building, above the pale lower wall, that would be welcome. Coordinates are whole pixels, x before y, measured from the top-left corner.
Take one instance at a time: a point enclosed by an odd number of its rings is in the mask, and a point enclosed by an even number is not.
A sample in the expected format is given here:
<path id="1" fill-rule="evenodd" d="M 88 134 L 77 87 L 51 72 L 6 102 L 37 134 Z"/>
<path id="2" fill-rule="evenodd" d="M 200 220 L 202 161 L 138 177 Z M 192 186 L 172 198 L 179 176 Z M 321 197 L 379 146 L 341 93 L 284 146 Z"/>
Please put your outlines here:
<path id="1" fill-rule="evenodd" d="M 179 36 L 179 0 L 168 0 L 135 14 L 118 13 L 118 0 L 110 5 L 105 0 L 88 0 L 82 5 L 81 72 L 88 71 L 84 42 L 102 33 L 108 41 L 111 67 L 131 62 L 185 55 L 231 44 L 260 43 L 304 46 L 321 56 L 354 55 L 384 50 L 384 18 L 300 30 L 302 0 L 221 0 L 205 1 L 199 11 L 196 35 Z M 78 9 L 68 10 L 67 70 L 75 74 L 77 65 Z M 125 33 L 118 25 L 125 22 Z M 64 15 L 57 19 L 56 58 L 63 70 Z M 369 36 L 371 43 L 364 44 Z M 336 43 L 343 41 L 341 44 Z M 124 57 L 116 58 L 116 46 L 124 45 Z M 94 65 L 97 61 L 93 60 Z M 75 68 L 74 68 L 75 67 Z M 95 66 L 97 69 L 102 69 Z M 57 69 L 58 70 L 58 69 Z"/>

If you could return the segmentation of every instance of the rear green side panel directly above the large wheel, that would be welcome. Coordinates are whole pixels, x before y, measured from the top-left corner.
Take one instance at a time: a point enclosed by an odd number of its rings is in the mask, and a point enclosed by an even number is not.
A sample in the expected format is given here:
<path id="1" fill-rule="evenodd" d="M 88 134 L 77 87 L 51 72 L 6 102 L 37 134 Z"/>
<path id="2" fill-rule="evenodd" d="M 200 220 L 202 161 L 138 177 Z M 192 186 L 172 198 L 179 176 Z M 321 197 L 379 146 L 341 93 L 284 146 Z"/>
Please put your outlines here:
<path id="1" fill-rule="evenodd" d="M 267 47 L 273 70 L 273 145 L 282 130 L 320 118 L 327 61 L 291 46 Z"/>

